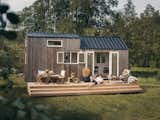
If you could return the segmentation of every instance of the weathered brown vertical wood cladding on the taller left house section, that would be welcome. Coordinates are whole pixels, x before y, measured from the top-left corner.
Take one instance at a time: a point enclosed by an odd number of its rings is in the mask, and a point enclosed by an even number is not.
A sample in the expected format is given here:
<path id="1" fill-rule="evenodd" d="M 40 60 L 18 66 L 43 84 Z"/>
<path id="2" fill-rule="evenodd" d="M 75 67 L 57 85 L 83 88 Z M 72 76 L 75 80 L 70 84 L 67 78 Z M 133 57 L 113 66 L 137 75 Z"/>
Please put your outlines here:
<path id="1" fill-rule="evenodd" d="M 66 71 L 66 80 L 71 72 L 75 72 L 77 77 L 81 78 L 80 68 L 83 64 L 57 64 L 57 52 L 61 51 L 79 51 L 79 39 L 54 39 L 62 40 L 63 47 L 47 47 L 47 40 L 50 38 L 27 38 L 27 63 L 25 64 L 25 80 L 34 82 L 38 70 L 53 70 L 60 74 L 61 70 Z M 73 44 L 74 41 L 74 44 Z"/>

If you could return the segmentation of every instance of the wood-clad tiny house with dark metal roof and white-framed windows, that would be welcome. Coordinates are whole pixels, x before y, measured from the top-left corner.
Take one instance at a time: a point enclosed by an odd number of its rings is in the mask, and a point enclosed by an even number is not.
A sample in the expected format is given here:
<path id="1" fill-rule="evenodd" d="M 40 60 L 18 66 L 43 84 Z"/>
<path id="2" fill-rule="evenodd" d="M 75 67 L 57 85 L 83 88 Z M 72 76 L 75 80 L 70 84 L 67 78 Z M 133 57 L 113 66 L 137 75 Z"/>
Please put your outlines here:
<path id="1" fill-rule="evenodd" d="M 119 76 L 128 68 L 128 47 L 115 36 L 29 32 L 25 38 L 25 80 L 35 82 L 38 70 L 72 72 L 81 79 L 82 69 L 91 74 Z"/>

